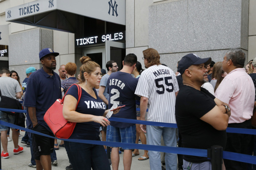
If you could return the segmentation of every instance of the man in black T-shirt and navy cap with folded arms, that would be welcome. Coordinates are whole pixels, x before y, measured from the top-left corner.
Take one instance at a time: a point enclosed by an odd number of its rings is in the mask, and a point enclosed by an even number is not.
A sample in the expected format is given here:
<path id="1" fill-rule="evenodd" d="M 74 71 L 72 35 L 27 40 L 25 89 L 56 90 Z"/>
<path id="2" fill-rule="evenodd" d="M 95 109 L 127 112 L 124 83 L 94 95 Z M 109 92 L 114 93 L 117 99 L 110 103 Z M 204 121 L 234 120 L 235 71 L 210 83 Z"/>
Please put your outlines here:
<path id="1" fill-rule="evenodd" d="M 175 116 L 185 148 L 208 149 L 213 145 L 226 145 L 229 106 L 201 88 L 208 81 L 206 66 L 211 60 L 188 54 L 182 57 L 178 66 L 183 86 L 176 98 Z M 207 158 L 183 155 L 183 169 L 210 167 Z"/>

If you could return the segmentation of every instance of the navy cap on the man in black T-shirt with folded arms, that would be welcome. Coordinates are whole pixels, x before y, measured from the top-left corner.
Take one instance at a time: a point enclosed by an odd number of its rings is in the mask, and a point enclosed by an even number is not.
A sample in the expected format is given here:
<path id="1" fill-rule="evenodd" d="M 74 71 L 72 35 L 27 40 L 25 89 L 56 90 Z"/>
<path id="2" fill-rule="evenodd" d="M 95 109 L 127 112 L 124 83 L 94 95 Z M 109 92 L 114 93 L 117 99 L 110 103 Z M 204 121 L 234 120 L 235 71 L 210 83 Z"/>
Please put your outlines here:
<path id="1" fill-rule="evenodd" d="M 195 64 L 205 64 L 208 65 L 212 61 L 211 57 L 208 58 L 200 58 L 196 54 L 187 54 L 184 57 L 181 58 L 179 64 L 178 64 L 178 72 L 182 75 L 188 67 Z"/>

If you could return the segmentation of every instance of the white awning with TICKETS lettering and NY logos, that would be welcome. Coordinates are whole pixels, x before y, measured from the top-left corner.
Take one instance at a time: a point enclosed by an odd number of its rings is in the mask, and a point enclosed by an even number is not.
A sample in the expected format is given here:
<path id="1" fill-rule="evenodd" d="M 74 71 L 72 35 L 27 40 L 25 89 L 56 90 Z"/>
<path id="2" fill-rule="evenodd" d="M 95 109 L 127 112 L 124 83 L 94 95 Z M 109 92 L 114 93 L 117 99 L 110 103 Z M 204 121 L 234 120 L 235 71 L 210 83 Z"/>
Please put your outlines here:
<path id="1" fill-rule="evenodd" d="M 125 25 L 125 0 L 36 0 L 5 10 L 5 20 L 74 32 L 79 16 Z"/>

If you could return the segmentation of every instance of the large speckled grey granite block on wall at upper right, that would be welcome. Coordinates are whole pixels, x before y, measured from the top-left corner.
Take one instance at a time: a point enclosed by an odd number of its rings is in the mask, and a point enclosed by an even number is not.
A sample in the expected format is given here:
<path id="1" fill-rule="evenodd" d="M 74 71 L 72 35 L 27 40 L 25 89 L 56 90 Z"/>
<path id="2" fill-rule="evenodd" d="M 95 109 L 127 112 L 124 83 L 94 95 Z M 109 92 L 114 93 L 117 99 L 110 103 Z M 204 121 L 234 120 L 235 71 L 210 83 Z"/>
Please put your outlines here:
<path id="1" fill-rule="evenodd" d="M 149 6 L 149 48 L 160 54 L 242 46 L 247 50 L 246 12 L 248 15 L 248 0 L 155 3 Z M 246 29 L 247 35 L 242 34 Z"/>

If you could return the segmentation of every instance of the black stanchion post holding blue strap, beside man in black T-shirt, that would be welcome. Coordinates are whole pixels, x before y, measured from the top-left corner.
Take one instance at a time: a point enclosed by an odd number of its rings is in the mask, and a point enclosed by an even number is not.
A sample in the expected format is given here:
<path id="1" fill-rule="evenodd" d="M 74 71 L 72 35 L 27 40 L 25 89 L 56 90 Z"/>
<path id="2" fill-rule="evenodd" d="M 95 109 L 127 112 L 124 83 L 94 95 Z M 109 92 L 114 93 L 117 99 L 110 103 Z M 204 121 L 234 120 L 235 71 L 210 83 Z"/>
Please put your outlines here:
<path id="1" fill-rule="evenodd" d="M 223 148 L 214 145 L 207 150 L 207 157 L 211 159 L 212 170 L 222 170 Z"/>

